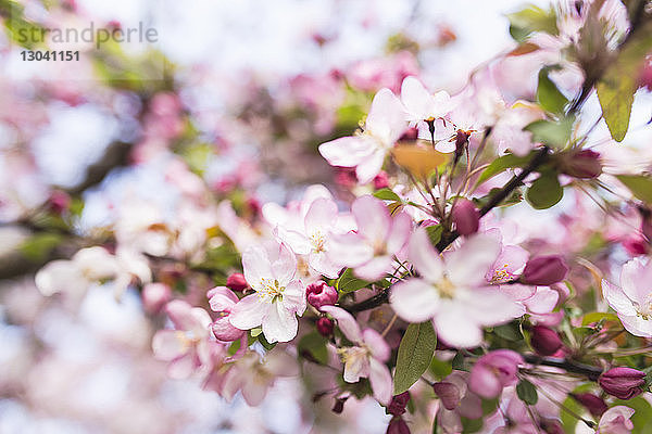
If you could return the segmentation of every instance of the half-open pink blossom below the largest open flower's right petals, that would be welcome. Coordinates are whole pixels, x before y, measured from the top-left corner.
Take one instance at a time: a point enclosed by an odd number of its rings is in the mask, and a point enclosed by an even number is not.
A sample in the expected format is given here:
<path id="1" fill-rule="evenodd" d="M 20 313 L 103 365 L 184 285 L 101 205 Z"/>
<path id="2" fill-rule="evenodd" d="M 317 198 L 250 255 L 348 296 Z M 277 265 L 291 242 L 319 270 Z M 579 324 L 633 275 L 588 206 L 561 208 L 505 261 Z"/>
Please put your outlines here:
<path id="1" fill-rule="evenodd" d="M 504 387 L 516 384 L 518 365 L 523 362 L 523 357 L 510 349 L 488 353 L 474 365 L 468 387 L 484 398 L 496 398 Z"/>

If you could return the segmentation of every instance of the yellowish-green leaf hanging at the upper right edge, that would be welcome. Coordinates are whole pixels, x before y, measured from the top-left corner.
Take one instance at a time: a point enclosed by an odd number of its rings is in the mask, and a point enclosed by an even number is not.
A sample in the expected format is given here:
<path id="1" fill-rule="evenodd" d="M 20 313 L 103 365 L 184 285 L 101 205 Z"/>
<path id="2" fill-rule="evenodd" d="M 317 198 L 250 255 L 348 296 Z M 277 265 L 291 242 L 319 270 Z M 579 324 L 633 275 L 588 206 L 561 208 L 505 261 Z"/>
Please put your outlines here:
<path id="1" fill-rule="evenodd" d="M 602 116 L 612 138 L 620 142 L 629 128 L 639 71 L 652 50 L 652 23 L 639 29 L 595 85 Z"/>

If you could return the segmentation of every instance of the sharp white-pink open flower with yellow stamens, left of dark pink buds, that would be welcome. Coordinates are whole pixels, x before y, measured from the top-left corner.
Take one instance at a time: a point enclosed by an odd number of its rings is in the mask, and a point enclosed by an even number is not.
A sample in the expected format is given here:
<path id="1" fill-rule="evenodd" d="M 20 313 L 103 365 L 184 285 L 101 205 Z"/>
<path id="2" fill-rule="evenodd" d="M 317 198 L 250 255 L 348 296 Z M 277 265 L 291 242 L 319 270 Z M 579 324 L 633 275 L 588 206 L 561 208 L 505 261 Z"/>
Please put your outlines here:
<path id="1" fill-rule="evenodd" d="M 305 286 L 294 279 L 297 258 L 285 245 L 251 246 L 242 254 L 247 283 L 255 291 L 230 311 L 230 323 L 240 330 L 262 326 L 269 343 L 288 342 L 297 335 L 297 315 L 305 310 Z"/>

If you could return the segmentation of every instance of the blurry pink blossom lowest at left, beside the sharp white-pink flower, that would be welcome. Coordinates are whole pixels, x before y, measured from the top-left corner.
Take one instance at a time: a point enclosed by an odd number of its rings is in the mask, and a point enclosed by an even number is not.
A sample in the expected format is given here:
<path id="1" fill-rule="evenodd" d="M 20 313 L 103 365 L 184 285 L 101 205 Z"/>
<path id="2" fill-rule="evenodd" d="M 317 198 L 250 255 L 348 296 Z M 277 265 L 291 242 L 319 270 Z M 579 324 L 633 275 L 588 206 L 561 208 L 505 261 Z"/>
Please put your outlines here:
<path id="1" fill-rule="evenodd" d="M 186 379 L 193 372 L 212 368 L 209 327 L 211 317 L 201 307 L 175 299 L 165 306 L 174 330 L 159 330 L 152 341 L 154 357 L 168 361 L 173 379 Z"/>

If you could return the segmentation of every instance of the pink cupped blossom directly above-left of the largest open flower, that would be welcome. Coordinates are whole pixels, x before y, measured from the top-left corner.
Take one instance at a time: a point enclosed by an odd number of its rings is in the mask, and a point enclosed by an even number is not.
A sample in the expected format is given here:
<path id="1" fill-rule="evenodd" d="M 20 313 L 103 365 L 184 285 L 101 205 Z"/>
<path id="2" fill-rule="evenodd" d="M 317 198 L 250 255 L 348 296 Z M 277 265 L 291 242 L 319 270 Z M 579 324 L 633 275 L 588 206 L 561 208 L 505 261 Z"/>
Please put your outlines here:
<path id="1" fill-rule="evenodd" d="M 365 195 L 351 206 L 358 232 L 333 238 L 329 255 L 333 261 L 355 269 L 355 275 L 369 282 L 391 270 L 393 256 L 403 248 L 412 219 L 405 213 L 393 218 L 383 201 Z"/>

